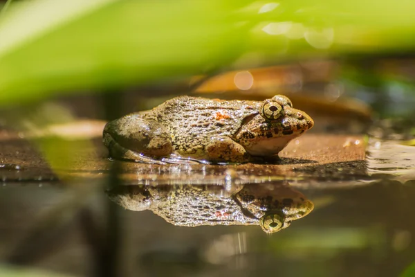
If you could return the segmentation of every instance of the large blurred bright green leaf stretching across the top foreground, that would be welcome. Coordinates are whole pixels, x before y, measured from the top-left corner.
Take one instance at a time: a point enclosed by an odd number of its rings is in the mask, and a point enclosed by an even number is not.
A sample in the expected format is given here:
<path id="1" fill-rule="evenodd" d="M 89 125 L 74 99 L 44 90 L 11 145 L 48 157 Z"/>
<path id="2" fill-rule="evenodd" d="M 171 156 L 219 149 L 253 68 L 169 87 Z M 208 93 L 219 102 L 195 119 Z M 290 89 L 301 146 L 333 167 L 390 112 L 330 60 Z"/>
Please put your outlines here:
<path id="1" fill-rule="evenodd" d="M 403 0 L 33 0 L 0 18 L 0 103 L 415 45 Z"/>

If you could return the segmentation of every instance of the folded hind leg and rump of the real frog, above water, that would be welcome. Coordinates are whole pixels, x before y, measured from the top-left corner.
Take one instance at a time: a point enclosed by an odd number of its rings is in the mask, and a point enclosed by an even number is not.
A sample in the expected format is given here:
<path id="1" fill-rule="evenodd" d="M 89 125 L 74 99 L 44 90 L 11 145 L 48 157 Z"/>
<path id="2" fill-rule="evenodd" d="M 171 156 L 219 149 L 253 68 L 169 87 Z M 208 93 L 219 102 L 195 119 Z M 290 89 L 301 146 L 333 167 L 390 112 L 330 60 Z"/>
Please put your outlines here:
<path id="1" fill-rule="evenodd" d="M 129 114 L 107 123 L 103 136 L 110 157 L 116 159 L 165 164 L 158 158 L 172 153 L 167 128 L 140 114 Z"/>

